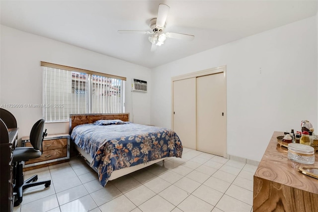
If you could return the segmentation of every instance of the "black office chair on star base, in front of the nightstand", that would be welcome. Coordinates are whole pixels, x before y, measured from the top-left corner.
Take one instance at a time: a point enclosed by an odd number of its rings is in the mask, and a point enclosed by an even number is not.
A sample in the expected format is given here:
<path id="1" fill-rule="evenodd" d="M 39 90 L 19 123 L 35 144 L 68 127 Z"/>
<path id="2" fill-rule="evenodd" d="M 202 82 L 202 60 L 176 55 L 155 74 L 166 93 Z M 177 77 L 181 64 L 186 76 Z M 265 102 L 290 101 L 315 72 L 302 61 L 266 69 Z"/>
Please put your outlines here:
<path id="1" fill-rule="evenodd" d="M 13 192 L 16 193 L 14 206 L 20 205 L 22 202 L 22 192 L 24 189 L 44 184 L 45 188 L 51 185 L 51 180 L 35 182 L 38 180 L 38 176 L 23 181 L 23 165 L 22 161 L 27 161 L 34 158 L 39 158 L 42 155 L 42 142 L 44 137 L 47 135 L 44 129 L 44 119 L 38 120 L 32 127 L 30 133 L 30 143 L 33 147 L 16 147 L 13 150 L 13 162 L 16 163 L 16 175 L 15 185 L 13 186 Z M 40 150 L 41 148 L 41 150 Z"/>

